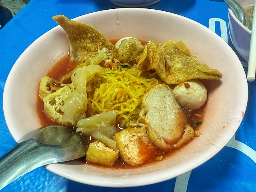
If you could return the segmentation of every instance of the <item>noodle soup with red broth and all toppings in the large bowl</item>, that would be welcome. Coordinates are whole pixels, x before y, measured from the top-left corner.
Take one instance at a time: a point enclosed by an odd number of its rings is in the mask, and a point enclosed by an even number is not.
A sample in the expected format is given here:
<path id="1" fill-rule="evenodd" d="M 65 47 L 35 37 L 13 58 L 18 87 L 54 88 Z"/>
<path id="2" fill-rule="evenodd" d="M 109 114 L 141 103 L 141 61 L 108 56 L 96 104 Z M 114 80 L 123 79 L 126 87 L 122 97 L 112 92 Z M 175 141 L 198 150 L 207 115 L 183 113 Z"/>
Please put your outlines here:
<path id="1" fill-rule="evenodd" d="M 70 52 L 39 86 L 42 126 L 73 126 L 88 145 L 85 162 L 140 166 L 200 136 L 207 89 L 222 74 L 182 41 L 160 45 L 124 37 L 115 45 L 88 24 L 53 17 Z M 121 163 L 120 163 L 121 162 Z"/>

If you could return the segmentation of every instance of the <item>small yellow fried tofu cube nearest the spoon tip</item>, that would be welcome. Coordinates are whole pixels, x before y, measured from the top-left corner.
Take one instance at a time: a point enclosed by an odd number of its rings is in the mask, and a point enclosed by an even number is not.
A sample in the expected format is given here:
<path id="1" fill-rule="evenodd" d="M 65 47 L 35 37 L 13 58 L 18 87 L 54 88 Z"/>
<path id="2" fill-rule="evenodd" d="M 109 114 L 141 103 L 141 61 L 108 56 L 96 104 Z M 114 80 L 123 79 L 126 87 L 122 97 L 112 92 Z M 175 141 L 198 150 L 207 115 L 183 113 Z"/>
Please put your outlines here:
<path id="1" fill-rule="evenodd" d="M 119 156 L 119 150 L 111 149 L 102 142 L 95 141 L 90 143 L 86 152 L 86 161 L 99 163 L 104 166 L 112 166 Z"/>

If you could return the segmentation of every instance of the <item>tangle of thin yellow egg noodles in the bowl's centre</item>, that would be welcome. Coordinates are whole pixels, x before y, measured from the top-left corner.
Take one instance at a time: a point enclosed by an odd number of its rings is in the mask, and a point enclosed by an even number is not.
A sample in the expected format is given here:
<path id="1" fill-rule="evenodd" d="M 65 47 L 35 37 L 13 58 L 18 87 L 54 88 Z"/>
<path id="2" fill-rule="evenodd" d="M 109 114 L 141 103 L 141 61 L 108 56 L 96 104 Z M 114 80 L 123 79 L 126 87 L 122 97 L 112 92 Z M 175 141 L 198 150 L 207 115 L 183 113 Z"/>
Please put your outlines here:
<path id="1" fill-rule="evenodd" d="M 97 77 L 88 82 L 88 85 L 97 82 L 98 88 L 92 96 L 88 94 L 87 112 L 92 116 L 103 111 L 116 110 L 119 126 L 123 127 L 138 117 L 143 96 L 158 84 L 158 80 L 142 76 L 142 71 L 136 68 L 119 66 L 117 70 L 105 68 L 105 72 L 104 75 L 98 75 L 103 81 L 100 84 Z"/>

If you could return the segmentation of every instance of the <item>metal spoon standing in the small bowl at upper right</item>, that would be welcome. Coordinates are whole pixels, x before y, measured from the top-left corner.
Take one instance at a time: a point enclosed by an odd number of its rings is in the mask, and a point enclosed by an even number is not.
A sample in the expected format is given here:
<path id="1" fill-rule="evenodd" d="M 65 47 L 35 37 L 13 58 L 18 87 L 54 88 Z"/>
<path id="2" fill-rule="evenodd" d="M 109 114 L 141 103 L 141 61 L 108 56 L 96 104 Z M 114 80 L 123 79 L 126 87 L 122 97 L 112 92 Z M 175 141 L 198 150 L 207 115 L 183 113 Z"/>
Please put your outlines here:
<path id="1" fill-rule="evenodd" d="M 249 30 L 252 30 L 252 22 L 249 19 L 246 12 L 244 11 L 244 9 L 242 8 L 242 6 L 240 6 L 240 4 L 238 4 L 238 2 L 236 2 L 235 0 L 224 0 L 224 1 L 228 4 L 228 6 L 232 10 L 236 18 L 238 18 L 238 20 L 244 26 L 246 26 Z"/>

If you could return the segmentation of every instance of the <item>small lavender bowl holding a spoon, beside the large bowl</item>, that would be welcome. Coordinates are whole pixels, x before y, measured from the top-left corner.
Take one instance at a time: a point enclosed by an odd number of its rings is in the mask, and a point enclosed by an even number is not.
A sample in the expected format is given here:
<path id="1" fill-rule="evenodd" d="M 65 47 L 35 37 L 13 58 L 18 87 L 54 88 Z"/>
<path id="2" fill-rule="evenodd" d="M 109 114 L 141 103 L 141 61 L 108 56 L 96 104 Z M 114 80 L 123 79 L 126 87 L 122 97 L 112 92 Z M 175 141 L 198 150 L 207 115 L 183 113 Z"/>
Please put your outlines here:
<path id="1" fill-rule="evenodd" d="M 236 0 L 242 7 L 251 5 L 254 0 Z M 228 30 L 232 44 L 237 52 L 248 62 L 251 31 L 246 28 L 228 8 Z"/>

